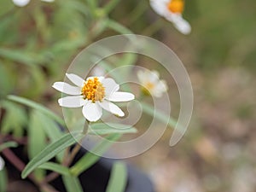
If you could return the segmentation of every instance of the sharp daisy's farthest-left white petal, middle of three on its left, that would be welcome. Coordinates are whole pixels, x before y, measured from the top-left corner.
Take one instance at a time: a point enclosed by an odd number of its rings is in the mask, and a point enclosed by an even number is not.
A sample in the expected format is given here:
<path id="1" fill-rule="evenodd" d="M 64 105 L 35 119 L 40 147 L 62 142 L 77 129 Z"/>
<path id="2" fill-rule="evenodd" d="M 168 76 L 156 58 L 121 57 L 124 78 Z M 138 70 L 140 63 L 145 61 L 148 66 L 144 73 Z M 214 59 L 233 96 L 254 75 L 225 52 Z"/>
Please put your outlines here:
<path id="1" fill-rule="evenodd" d="M 72 96 L 78 96 L 81 94 L 81 88 L 72 86 L 65 82 L 55 82 L 52 87 L 55 88 L 55 90 L 59 90 L 62 93 L 66 93 Z"/>

